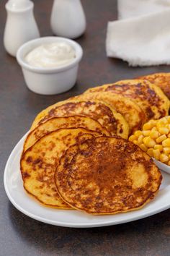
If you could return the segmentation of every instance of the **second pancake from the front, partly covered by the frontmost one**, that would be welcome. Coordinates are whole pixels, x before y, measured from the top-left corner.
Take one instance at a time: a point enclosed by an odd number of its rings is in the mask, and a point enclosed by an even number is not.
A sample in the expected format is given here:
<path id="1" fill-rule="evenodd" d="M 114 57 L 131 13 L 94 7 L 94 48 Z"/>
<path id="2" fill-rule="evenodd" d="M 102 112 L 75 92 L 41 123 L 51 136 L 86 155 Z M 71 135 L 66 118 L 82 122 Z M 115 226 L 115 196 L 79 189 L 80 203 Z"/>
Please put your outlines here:
<path id="1" fill-rule="evenodd" d="M 70 208 L 55 189 L 55 166 L 70 145 L 100 135 L 88 129 L 68 128 L 58 129 L 42 137 L 22 155 L 20 166 L 24 189 L 45 205 Z"/>

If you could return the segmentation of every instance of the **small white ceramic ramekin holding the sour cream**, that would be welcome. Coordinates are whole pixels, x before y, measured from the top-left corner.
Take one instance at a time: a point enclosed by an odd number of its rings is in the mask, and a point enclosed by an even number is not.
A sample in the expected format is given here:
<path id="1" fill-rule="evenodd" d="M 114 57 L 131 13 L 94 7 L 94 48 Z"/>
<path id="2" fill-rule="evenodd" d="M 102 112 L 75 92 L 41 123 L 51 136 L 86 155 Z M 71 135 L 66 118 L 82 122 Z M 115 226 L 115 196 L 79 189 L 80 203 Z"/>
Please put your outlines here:
<path id="1" fill-rule="evenodd" d="M 32 67 L 24 60 L 24 57 L 32 51 L 33 48 L 44 43 L 65 42 L 69 43 L 76 51 L 76 58 L 69 64 L 62 67 Z M 45 37 L 30 40 L 24 43 L 17 51 L 17 61 L 22 67 L 24 80 L 27 87 L 34 93 L 43 95 L 53 95 L 66 92 L 71 89 L 76 82 L 79 61 L 83 55 L 83 50 L 79 43 L 73 40 L 60 37 Z"/>

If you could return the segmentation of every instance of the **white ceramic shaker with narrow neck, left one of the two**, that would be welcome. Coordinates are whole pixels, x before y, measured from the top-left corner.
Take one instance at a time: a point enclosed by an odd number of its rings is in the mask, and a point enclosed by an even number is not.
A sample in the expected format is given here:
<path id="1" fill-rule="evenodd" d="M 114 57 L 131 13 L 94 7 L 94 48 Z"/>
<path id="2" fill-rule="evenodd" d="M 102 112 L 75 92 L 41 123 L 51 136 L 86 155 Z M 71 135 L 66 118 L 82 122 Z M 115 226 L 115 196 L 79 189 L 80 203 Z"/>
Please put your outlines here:
<path id="1" fill-rule="evenodd" d="M 30 0 L 9 0 L 6 3 L 7 19 L 4 30 L 4 47 L 12 56 L 23 43 L 40 38 Z"/>

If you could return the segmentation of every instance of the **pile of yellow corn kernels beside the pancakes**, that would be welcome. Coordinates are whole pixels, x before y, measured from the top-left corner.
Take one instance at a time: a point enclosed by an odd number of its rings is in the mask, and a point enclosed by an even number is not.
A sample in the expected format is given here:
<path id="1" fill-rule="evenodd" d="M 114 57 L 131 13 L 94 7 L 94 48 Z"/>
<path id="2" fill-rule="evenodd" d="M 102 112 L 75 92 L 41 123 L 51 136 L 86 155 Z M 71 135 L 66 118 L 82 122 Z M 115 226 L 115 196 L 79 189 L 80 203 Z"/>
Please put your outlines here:
<path id="1" fill-rule="evenodd" d="M 129 140 L 151 157 L 170 166 L 170 116 L 148 121 L 143 130 L 136 131 Z"/>

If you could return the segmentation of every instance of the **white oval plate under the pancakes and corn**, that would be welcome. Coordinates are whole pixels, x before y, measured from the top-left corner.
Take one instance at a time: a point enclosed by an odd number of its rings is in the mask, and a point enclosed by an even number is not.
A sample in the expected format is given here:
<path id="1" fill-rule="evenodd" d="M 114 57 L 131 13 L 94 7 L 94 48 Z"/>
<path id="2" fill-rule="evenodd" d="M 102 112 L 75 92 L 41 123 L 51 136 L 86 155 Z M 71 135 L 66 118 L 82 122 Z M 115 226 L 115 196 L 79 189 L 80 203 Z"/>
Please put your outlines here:
<path id="1" fill-rule="evenodd" d="M 163 173 L 163 182 L 156 198 L 140 210 L 108 216 L 91 216 L 78 210 L 57 210 L 41 205 L 23 189 L 19 160 L 26 135 L 17 143 L 6 163 L 4 187 L 15 208 L 37 221 L 55 226 L 89 228 L 109 226 L 146 218 L 170 208 L 170 175 Z"/>

